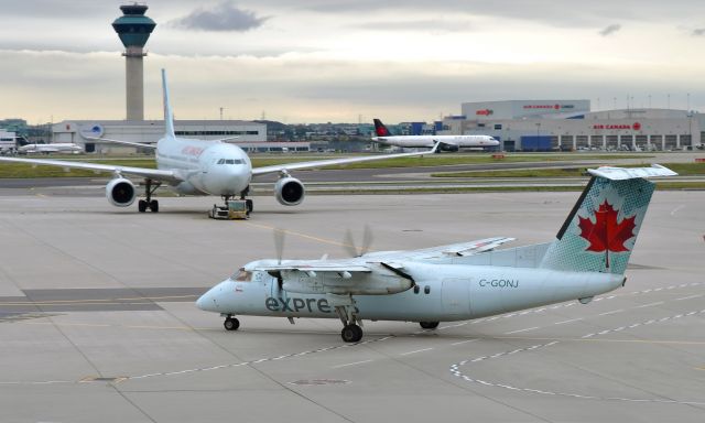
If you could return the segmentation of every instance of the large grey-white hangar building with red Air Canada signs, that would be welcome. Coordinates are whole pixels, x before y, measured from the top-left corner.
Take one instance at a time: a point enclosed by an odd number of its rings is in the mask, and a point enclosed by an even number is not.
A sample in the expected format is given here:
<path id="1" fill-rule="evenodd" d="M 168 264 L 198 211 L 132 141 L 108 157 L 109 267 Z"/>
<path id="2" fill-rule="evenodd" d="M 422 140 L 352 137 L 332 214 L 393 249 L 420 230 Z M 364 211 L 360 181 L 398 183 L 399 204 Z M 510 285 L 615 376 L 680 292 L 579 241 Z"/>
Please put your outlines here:
<path id="1" fill-rule="evenodd" d="M 590 111 L 589 100 L 464 102 L 444 131 L 487 134 L 506 151 L 630 150 L 699 148 L 705 115 L 675 109 Z"/>

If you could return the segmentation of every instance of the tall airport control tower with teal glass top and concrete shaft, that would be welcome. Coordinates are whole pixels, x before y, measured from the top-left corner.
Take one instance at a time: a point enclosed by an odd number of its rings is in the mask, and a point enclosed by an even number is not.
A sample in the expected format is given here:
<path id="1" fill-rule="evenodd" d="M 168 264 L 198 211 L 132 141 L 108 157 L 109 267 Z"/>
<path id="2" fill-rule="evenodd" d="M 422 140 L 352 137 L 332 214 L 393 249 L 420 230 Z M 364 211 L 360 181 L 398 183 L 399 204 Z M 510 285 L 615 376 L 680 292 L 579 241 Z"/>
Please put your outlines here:
<path id="1" fill-rule="evenodd" d="M 124 76 L 127 88 L 127 120 L 144 120 L 143 47 L 156 23 L 144 15 L 148 6 L 140 3 L 120 7 L 123 15 L 112 22 L 112 28 L 124 45 Z"/>

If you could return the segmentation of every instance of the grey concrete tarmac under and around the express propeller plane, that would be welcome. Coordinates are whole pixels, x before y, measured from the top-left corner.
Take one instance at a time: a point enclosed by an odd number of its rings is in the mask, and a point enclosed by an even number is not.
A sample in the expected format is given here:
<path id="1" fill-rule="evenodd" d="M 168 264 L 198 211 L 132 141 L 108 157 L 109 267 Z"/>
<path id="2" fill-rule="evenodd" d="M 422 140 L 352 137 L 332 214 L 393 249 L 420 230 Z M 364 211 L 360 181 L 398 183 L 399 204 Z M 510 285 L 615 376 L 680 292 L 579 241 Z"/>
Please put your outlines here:
<path id="1" fill-rule="evenodd" d="M 14 191 L 14 189 L 13 189 Z M 12 191 L 12 192 L 13 192 Z M 578 193 L 258 197 L 248 221 L 218 198 L 159 214 L 104 197 L 0 196 L 2 422 L 703 422 L 705 193 L 657 192 L 627 285 L 422 330 L 241 316 L 229 333 L 195 297 L 239 265 L 376 250 L 552 239 Z"/>

